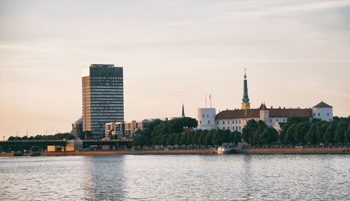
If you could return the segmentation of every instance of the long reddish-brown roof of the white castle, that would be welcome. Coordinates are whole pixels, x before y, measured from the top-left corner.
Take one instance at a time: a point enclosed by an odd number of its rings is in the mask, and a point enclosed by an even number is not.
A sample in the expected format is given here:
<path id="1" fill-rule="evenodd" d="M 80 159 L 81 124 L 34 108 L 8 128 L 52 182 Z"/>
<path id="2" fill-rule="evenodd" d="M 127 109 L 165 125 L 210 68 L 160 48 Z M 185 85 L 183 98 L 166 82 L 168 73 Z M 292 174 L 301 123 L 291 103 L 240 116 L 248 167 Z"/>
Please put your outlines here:
<path id="1" fill-rule="evenodd" d="M 216 114 L 216 119 L 232 119 L 232 118 L 260 118 L 260 110 L 269 110 L 269 117 L 312 117 L 311 109 L 267 109 L 263 104 L 258 109 L 250 110 L 225 110 Z M 266 108 L 266 109 L 264 109 Z"/>

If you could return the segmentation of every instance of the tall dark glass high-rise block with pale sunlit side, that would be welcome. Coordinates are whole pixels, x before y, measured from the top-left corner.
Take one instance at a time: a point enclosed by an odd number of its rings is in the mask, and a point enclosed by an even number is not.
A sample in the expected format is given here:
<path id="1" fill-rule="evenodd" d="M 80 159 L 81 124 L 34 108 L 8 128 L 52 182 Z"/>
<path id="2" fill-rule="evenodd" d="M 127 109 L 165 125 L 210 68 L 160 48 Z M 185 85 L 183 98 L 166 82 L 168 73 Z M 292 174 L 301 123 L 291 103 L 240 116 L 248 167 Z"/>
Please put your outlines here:
<path id="1" fill-rule="evenodd" d="M 91 64 L 82 70 L 83 131 L 104 135 L 104 124 L 124 121 L 123 67 Z"/>

